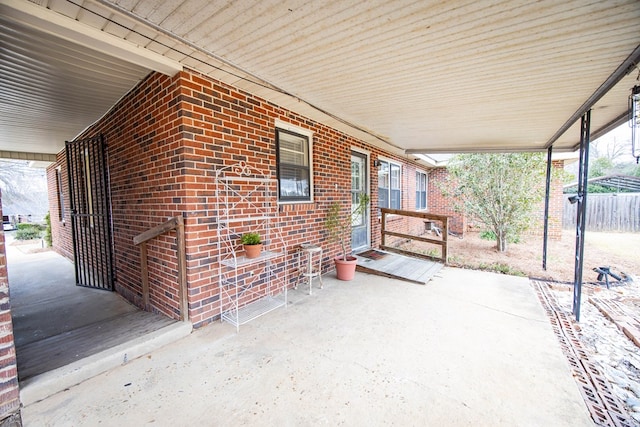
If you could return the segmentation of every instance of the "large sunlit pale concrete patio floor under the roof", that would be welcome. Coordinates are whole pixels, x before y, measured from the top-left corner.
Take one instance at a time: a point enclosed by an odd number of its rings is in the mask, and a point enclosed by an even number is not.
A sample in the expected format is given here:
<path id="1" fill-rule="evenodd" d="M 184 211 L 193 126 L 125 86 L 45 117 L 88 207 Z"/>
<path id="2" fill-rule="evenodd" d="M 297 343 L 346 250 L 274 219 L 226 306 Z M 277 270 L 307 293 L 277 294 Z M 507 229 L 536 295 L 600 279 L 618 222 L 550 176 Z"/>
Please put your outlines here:
<path id="1" fill-rule="evenodd" d="M 528 280 L 444 268 L 290 292 L 23 409 L 26 426 L 589 426 Z"/>

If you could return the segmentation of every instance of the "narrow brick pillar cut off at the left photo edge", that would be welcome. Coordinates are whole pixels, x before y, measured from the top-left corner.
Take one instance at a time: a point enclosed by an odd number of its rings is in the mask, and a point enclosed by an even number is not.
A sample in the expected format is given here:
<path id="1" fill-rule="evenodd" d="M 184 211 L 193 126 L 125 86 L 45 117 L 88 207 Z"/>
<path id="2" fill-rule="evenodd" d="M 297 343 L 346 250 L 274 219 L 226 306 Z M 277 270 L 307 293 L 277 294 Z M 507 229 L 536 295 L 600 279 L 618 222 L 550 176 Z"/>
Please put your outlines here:
<path id="1" fill-rule="evenodd" d="M 0 194 L 1 201 L 2 194 Z M 0 216 L 2 216 L 2 203 L 0 203 Z M 8 420 L 12 425 L 21 425 L 19 411 L 18 367 L 11 321 L 7 256 L 4 231 L 0 230 L 0 425 L 9 422 Z"/>

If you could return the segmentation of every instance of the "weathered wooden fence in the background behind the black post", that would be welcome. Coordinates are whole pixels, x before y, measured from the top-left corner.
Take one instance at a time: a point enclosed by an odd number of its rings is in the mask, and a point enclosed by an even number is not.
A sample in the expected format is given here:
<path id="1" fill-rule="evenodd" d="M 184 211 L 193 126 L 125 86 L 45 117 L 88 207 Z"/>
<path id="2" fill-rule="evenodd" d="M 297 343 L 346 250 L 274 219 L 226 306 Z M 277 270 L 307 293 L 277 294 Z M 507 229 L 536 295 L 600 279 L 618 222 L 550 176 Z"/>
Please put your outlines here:
<path id="1" fill-rule="evenodd" d="M 565 194 L 562 227 L 575 228 L 578 205 Z M 589 193 L 587 230 L 640 232 L 640 193 Z"/>

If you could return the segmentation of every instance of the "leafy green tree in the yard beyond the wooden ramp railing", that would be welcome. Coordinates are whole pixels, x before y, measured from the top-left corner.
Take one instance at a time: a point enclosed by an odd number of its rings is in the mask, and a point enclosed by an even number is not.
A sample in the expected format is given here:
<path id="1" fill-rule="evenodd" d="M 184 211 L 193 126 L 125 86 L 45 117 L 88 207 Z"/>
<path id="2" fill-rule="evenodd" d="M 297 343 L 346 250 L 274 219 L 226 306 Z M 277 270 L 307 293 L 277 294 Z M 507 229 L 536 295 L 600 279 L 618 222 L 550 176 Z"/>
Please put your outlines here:
<path id="1" fill-rule="evenodd" d="M 506 252 L 543 200 L 545 165 L 542 153 L 457 155 L 448 166 L 448 193 L 457 196 L 458 209 L 493 231 L 496 248 Z"/>

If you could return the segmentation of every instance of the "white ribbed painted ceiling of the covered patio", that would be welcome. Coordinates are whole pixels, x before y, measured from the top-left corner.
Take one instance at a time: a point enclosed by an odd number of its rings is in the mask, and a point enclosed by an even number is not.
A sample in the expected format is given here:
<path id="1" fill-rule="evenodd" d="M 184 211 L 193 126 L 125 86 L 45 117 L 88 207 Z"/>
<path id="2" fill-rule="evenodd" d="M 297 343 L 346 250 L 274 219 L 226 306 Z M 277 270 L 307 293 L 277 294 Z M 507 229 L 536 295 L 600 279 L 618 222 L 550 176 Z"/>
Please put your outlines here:
<path id="1" fill-rule="evenodd" d="M 640 51 L 637 0 L 0 0 L 0 12 L 0 150 L 25 152 L 59 151 L 148 72 L 181 66 L 398 153 L 571 150 L 577 123 L 554 135 Z M 625 71 L 592 131 L 624 117 L 638 84 Z"/>

